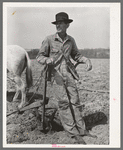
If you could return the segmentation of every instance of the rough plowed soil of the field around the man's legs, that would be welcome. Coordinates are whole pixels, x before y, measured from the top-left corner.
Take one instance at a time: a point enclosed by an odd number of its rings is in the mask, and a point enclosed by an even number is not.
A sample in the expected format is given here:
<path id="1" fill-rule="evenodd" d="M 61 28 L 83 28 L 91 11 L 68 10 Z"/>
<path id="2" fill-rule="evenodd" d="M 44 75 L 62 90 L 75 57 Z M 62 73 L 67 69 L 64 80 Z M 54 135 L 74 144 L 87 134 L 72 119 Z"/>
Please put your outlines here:
<path id="1" fill-rule="evenodd" d="M 32 59 L 32 72 L 34 84 L 40 76 L 41 66 L 36 60 Z M 109 59 L 92 59 L 93 69 L 90 72 L 84 70 L 83 65 L 77 67 L 80 75 L 80 83 L 77 83 L 80 101 L 84 105 L 82 115 L 84 117 L 86 128 L 91 134 L 97 136 L 92 138 L 84 136 L 83 139 L 87 144 L 108 145 L 109 144 Z M 8 74 L 12 77 L 12 74 Z M 25 80 L 25 71 L 22 78 Z M 57 106 L 52 92 L 51 85 L 48 83 L 47 97 L 53 105 Z M 88 89 L 88 90 L 87 90 Z M 36 87 L 30 89 L 27 99 L 30 99 L 36 91 Z M 60 91 L 59 91 L 60 92 Z M 7 82 L 7 113 L 16 110 L 20 103 L 20 98 L 12 102 L 15 93 L 15 84 L 10 80 Z M 42 100 L 43 84 L 40 84 L 32 101 Z M 38 108 L 41 115 L 42 108 Z M 56 113 L 58 119 L 58 112 Z M 60 121 L 60 120 L 59 120 Z M 26 110 L 22 113 L 15 113 L 7 117 L 6 122 L 6 142 L 7 144 L 74 144 L 63 128 L 52 124 L 52 129 L 48 133 L 43 133 L 38 128 L 36 109 Z"/>

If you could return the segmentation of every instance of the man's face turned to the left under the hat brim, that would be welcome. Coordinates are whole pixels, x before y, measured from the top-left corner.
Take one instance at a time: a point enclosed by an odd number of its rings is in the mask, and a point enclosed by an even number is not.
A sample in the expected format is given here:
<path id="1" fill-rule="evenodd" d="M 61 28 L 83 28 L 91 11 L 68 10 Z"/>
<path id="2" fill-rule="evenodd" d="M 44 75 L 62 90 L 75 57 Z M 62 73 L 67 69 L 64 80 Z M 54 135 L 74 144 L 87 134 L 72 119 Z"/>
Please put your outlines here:
<path id="1" fill-rule="evenodd" d="M 58 33 L 66 33 L 69 24 L 64 23 L 63 21 L 59 21 L 56 23 L 56 30 Z"/>

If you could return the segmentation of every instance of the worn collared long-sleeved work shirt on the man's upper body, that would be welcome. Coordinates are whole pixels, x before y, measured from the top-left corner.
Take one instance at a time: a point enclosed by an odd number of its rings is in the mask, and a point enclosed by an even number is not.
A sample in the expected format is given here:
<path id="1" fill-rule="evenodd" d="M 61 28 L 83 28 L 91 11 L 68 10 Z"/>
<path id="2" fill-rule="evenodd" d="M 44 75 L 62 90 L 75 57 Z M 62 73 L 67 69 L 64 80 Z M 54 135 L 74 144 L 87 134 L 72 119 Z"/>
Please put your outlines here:
<path id="1" fill-rule="evenodd" d="M 65 40 L 62 41 L 57 33 L 45 38 L 36 59 L 40 64 L 45 64 L 48 57 L 50 57 L 52 61 L 55 61 L 61 51 L 68 60 L 72 58 L 76 62 L 82 61 L 82 55 L 78 51 L 75 40 L 71 36 L 66 35 Z M 59 59 L 59 57 L 57 59 Z M 59 59 L 54 66 L 62 75 L 67 75 L 68 69 L 64 58 Z"/>

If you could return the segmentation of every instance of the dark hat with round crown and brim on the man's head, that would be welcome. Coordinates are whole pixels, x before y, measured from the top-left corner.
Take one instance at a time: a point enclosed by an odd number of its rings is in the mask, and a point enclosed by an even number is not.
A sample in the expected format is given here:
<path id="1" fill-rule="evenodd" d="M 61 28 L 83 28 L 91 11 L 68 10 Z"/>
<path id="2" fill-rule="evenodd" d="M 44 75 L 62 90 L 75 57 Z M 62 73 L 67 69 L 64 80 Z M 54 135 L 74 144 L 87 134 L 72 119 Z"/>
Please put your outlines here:
<path id="1" fill-rule="evenodd" d="M 64 21 L 65 23 L 71 23 L 73 20 L 69 19 L 69 16 L 65 12 L 60 12 L 56 14 L 56 21 L 52 22 L 52 24 L 56 24 L 57 22 Z"/>

